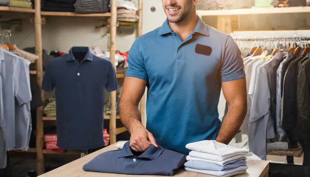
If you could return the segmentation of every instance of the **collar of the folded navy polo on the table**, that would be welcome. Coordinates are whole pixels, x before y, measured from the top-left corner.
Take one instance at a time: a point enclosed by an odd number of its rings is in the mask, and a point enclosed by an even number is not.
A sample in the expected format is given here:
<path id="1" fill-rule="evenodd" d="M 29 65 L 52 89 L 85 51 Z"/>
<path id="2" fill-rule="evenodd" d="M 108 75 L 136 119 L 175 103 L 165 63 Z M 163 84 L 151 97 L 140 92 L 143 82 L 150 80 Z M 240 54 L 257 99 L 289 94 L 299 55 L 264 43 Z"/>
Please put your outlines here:
<path id="1" fill-rule="evenodd" d="M 139 158 L 148 158 L 150 160 L 157 159 L 159 155 L 162 153 L 164 148 L 162 148 L 160 145 L 158 145 L 158 148 L 156 148 L 153 144 L 151 144 L 141 155 L 137 156 Z M 127 141 L 122 150 L 118 153 L 117 157 L 128 157 L 128 156 L 134 156 L 134 154 L 131 152 L 131 148 L 129 146 L 129 141 Z"/>

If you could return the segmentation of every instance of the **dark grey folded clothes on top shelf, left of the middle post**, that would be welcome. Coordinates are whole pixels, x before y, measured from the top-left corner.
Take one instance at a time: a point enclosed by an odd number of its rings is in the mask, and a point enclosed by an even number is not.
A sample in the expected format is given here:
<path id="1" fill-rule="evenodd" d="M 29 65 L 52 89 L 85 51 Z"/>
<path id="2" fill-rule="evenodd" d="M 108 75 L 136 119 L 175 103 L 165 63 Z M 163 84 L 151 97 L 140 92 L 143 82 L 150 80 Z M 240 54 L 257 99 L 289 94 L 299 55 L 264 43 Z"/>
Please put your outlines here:
<path id="1" fill-rule="evenodd" d="M 75 13 L 106 13 L 110 5 L 109 0 L 76 0 Z"/>

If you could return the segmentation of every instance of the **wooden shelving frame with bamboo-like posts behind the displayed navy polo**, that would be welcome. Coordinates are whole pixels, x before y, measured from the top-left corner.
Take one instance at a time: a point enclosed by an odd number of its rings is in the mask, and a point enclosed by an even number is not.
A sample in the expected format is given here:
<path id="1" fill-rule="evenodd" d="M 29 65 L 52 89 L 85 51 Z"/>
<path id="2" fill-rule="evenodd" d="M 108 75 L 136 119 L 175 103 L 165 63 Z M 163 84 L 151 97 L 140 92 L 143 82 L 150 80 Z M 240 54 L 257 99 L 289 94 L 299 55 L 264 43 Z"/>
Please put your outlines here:
<path id="1" fill-rule="evenodd" d="M 110 60 L 114 63 L 114 57 L 116 53 L 116 27 L 117 27 L 117 7 L 116 0 L 111 0 L 111 12 L 100 13 L 100 14 L 77 14 L 73 12 L 47 12 L 41 11 L 41 0 L 34 0 L 34 9 L 29 8 L 19 8 L 19 7 L 3 7 L 0 6 L 0 11 L 11 11 L 19 13 L 33 13 L 34 14 L 34 26 L 35 26 L 35 51 L 39 59 L 36 60 L 36 69 L 31 70 L 29 73 L 36 75 L 37 85 L 42 100 L 44 100 L 44 92 L 41 90 L 42 80 L 43 80 L 43 68 L 42 68 L 42 16 L 72 16 L 72 17 L 109 17 L 110 18 Z M 138 23 L 138 35 L 142 33 L 142 0 L 139 0 L 139 11 L 138 15 L 141 17 Z M 123 20 L 126 21 L 126 20 Z M 115 68 L 116 71 L 116 68 Z M 117 78 L 125 77 L 125 73 L 117 73 Z M 116 91 L 111 92 L 111 115 L 104 116 L 104 119 L 109 119 L 109 133 L 110 133 L 110 144 L 116 142 L 116 135 L 124 131 L 127 131 L 125 127 L 116 128 Z M 57 153 L 51 150 L 43 149 L 44 144 L 44 134 L 43 134 L 43 121 L 56 120 L 56 117 L 43 117 L 43 106 L 37 108 L 37 131 L 36 131 L 36 148 L 30 148 L 28 151 L 20 152 L 30 152 L 37 154 L 37 175 L 44 173 L 44 158 L 43 154 L 80 154 L 80 151 L 68 150 L 66 153 Z"/>

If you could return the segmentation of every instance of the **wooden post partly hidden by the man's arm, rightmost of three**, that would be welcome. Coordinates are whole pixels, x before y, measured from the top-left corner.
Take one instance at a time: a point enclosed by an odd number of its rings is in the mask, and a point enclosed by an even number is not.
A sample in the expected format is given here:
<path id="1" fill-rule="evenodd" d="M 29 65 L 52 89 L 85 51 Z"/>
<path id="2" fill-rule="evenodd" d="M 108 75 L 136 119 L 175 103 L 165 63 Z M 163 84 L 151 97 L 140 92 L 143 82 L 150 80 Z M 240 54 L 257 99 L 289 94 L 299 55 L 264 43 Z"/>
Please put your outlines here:
<path id="1" fill-rule="evenodd" d="M 143 1 L 138 1 L 138 16 L 140 17 L 140 20 L 138 21 L 138 37 L 142 35 L 142 8 L 143 8 Z M 145 93 L 143 94 L 140 103 L 139 103 L 139 110 L 141 113 L 141 123 L 145 126 L 146 120 L 145 120 Z"/>

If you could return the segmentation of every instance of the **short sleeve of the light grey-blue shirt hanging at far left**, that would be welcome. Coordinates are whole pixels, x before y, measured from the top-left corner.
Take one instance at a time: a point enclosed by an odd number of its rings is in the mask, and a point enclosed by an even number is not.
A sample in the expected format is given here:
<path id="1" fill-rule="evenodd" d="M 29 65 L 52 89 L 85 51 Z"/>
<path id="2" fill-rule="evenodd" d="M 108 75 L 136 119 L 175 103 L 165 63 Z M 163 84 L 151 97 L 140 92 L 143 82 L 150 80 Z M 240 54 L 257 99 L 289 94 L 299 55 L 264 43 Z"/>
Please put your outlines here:
<path id="1" fill-rule="evenodd" d="M 14 92 L 19 105 L 31 101 L 29 63 L 18 58 L 14 71 Z"/>

